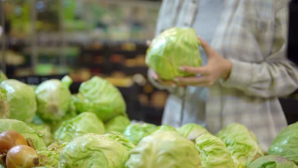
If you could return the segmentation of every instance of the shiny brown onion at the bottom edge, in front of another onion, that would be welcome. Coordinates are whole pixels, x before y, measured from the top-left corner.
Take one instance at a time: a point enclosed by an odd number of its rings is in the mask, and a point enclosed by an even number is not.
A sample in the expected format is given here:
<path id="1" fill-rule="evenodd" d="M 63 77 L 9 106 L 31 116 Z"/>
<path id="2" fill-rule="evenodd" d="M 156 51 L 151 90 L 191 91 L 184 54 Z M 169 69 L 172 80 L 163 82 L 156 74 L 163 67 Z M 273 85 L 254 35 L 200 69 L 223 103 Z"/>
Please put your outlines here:
<path id="1" fill-rule="evenodd" d="M 39 164 L 36 151 L 27 145 L 12 147 L 6 155 L 7 168 L 30 168 Z"/>

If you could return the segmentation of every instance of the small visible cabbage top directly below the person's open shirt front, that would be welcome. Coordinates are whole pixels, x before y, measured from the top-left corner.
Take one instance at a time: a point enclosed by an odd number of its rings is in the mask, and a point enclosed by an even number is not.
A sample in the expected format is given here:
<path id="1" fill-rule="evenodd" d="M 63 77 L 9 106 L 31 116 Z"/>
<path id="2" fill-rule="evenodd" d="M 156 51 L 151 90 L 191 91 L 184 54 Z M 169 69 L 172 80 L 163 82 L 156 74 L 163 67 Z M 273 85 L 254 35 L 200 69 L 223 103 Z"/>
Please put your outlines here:
<path id="1" fill-rule="evenodd" d="M 183 137 L 193 142 L 203 134 L 210 134 L 202 125 L 195 123 L 184 124 L 182 127 L 178 128 L 177 131 Z"/>

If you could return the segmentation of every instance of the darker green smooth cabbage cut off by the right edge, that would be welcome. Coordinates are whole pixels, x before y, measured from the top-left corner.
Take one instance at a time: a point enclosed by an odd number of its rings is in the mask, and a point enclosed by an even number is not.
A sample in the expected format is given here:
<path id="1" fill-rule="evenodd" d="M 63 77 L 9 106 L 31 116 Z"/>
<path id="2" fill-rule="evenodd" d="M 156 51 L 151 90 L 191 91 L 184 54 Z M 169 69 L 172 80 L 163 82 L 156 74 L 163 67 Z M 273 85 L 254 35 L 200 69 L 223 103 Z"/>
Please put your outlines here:
<path id="1" fill-rule="evenodd" d="M 268 153 L 285 157 L 298 165 L 298 122 L 288 125 L 276 136 Z"/>

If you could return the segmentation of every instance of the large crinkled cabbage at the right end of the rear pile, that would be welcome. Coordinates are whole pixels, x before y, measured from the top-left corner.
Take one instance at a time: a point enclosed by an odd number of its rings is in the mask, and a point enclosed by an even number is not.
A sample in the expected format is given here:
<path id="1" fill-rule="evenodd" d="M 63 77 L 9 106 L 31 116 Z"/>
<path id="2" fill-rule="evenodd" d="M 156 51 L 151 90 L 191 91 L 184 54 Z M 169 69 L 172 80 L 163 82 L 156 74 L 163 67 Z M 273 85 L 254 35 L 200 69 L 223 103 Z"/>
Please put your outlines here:
<path id="1" fill-rule="evenodd" d="M 97 76 L 81 84 L 75 106 L 79 112 L 95 113 L 104 122 L 117 115 L 126 115 L 126 104 L 120 91 L 108 80 Z"/>

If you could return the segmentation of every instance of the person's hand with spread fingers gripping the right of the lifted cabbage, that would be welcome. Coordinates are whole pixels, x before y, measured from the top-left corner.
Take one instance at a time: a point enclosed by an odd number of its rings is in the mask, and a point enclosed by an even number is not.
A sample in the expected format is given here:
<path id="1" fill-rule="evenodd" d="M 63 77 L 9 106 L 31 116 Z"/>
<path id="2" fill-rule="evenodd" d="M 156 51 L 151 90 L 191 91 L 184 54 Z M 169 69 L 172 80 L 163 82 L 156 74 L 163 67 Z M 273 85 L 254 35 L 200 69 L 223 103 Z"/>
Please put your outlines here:
<path id="1" fill-rule="evenodd" d="M 193 77 L 177 77 L 179 86 L 210 87 L 220 78 L 227 79 L 232 69 L 232 62 L 219 55 L 205 40 L 198 37 L 207 55 L 207 65 L 203 67 L 182 66 L 184 72 L 194 73 Z"/>

